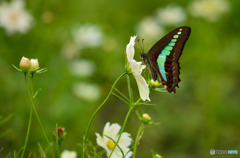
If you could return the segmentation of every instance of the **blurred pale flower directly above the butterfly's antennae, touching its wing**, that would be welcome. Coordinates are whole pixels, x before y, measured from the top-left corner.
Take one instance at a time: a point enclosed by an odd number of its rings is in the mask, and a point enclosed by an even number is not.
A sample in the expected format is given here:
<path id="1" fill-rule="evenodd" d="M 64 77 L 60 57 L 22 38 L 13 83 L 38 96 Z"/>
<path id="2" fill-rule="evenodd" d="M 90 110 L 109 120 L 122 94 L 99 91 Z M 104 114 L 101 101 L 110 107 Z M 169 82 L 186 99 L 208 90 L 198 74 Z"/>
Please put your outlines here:
<path id="1" fill-rule="evenodd" d="M 163 34 L 164 29 L 151 17 L 146 17 L 138 24 L 136 31 L 146 41 L 155 41 Z"/>

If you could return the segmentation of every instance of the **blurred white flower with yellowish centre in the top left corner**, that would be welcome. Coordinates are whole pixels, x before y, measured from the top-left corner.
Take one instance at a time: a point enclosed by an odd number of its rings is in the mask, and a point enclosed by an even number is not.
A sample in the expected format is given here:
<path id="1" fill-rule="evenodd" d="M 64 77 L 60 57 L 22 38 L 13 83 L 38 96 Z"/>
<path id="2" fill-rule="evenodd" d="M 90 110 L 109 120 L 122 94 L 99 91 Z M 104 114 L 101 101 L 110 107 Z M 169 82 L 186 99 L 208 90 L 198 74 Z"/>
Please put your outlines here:
<path id="1" fill-rule="evenodd" d="M 30 29 L 33 18 L 24 6 L 22 0 L 0 3 L 0 27 L 5 28 L 9 35 L 14 32 L 24 34 Z"/>

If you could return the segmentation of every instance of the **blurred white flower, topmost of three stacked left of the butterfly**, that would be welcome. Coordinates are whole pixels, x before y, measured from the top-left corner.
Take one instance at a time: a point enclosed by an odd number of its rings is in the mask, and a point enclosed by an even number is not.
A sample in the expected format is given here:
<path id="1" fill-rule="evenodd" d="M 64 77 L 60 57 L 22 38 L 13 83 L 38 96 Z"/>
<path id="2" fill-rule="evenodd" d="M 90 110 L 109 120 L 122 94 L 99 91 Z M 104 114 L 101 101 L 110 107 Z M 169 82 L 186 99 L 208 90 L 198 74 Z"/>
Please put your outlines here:
<path id="1" fill-rule="evenodd" d="M 84 24 L 73 31 L 73 39 L 79 48 L 97 47 L 103 42 L 103 33 L 98 25 Z"/>

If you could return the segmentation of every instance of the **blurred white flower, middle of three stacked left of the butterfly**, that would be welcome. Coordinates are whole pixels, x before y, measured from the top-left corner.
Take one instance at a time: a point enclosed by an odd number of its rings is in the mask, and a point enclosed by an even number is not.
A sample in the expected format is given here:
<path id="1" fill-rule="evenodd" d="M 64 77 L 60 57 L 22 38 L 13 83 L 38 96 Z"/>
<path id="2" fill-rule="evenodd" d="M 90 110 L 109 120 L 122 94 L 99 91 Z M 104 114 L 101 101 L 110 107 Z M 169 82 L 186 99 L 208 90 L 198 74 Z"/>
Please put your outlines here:
<path id="1" fill-rule="evenodd" d="M 95 71 L 95 63 L 91 60 L 74 60 L 69 65 L 69 71 L 74 76 L 89 77 Z"/>

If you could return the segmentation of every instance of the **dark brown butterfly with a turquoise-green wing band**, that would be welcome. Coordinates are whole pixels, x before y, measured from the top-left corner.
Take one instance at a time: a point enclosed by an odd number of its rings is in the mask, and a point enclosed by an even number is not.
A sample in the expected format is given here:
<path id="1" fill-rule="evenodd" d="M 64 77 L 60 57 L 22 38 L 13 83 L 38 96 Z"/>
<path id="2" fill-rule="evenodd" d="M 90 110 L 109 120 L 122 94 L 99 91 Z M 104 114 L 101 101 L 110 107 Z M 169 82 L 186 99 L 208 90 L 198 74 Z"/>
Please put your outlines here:
<path id="1" fill-rule="evenodd" d="M 140 53 L 152 79 L 156 81 L 159 76 L 163 86 L 170 93 L 176 93 L 175 87 L 179 88 L 178 83 L 181 80 L 178 60 L 190 33 L 190 27 L 179 27 L 161 38 L 147 54 Z"/>

